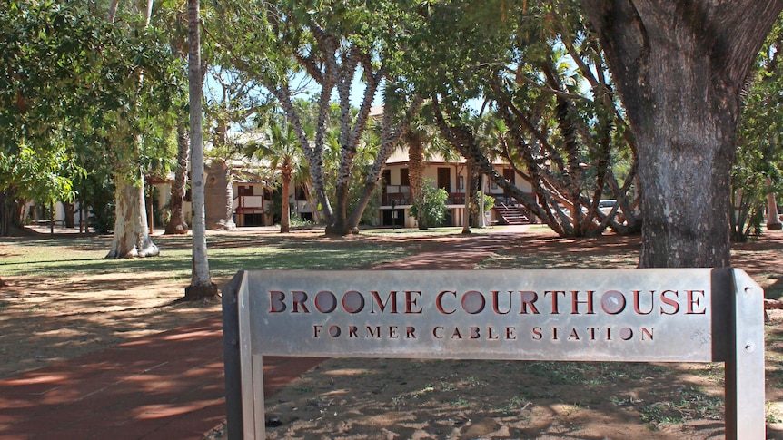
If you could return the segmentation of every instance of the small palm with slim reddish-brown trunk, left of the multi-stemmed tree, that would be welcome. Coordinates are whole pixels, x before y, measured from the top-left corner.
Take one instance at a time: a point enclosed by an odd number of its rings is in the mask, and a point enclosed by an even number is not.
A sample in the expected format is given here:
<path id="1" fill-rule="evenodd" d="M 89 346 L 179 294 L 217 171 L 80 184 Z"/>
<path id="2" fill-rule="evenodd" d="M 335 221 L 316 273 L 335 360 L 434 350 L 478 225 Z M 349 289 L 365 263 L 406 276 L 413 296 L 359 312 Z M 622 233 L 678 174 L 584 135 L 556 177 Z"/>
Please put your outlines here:
<path id="1" fill-rule="evenodd" d="M 269 122 L 264 132 L 263 143 L 250 143 L 245 147 L 244 155 L 266 161 L 273 170 L 280 171 L 282 181 L 282 210 L 280 231 L 291 230 L 291 206 L 289 192 L 291 181 L 302 167 L 302 152 L 298 147 L 296 132 L 291 125 L 276 120 Z"/>

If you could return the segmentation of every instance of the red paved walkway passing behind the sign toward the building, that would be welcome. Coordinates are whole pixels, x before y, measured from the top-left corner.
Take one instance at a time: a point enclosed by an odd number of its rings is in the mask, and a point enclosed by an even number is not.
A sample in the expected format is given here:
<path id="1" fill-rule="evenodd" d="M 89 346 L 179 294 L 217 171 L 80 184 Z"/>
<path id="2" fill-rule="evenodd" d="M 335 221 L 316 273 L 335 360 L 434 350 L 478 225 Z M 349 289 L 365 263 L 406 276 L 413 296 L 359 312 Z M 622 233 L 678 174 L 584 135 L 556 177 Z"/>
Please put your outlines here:
<path id="1" fill-rule="evenodd" d="M 521 230 L 464 236 L 375 269 L 471 269 Z M 322 360 L 265 357 L 264 396 Z M 0 440 L 200 440 L 224 418 L 220 316 L 0 380 Z"/>

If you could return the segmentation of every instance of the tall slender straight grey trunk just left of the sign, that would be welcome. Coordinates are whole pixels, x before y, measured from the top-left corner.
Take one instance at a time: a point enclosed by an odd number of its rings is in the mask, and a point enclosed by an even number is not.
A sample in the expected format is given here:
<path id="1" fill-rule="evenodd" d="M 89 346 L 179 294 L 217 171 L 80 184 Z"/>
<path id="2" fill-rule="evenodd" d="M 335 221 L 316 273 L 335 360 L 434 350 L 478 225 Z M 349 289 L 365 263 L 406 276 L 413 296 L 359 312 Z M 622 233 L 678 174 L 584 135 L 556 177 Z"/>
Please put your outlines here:
<path id="1" fill-rule="evenodd" d="M 190 141 L 193 173 L 193 270 L 185 298 L 217 295 L 217 286 L 209 273 L 206 252 L 206 224 L 203 196 L 203 134 L 201 41 L 199 36 L 199 0 L 188 0 L 188 92 L 190 101 Z"/>

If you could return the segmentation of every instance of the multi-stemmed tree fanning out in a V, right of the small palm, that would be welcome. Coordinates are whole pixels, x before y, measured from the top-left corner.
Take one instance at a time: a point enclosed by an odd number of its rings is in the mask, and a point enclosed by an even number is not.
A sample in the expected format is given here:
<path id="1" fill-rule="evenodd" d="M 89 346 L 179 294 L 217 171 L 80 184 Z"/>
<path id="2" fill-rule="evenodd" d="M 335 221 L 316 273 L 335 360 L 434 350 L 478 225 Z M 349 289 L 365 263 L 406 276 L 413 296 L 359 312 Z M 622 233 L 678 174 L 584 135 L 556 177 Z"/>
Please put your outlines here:
<path id="1" fill-rule="evenodd" d="M 405 132 L 410 110 L 421 103 L 415 97 L 401 98 L 405 93 L 395 83 L 401 76 L 398 69 L 402 64 L 398 58 L 408 35 L 406 28 L 414 25 L 409 20 L 415 18 L 410 15 L 411 5 L 280 2 L 264 4 L 268 10 L 259 10 L 256 4 L 234 7 L 237 5 L 214 4 L 220 20 L 233 24 L 219 29 L 223 34 L 221 44 L 231 44 L 231 50 L 225 51 L 226 61 L 254 75 L 280 103 L 308 161 L 313 191 L 327 223 L 326 232 L 335 235 L 355 232 L 380 181 L 390 148 L 393 149 Z M 253 38 L 246 38 L 247 34 L 253 34 Z M 302 114 L 294 105 L 297 88 L 292 83 L 302 76 L 311 81 L 310 91 L 318 109 L 312 137 L 303 130 Z M 355 82 L 357 77 L 361 77 L 361 85 Z M 386 81 L 382 147 L 368 174 L 356 182 L 354 159 L 382 80 Z M 363 87 L 358 108 L 352 105 L 355 87 Z M 323 154 L 327 119 L 335 95 L 340 109 L 337 119 L 340 166 L 332 197 L 327 191 Z M 362 187 L 362 195 L 353 205 L 352 182 Z"/>

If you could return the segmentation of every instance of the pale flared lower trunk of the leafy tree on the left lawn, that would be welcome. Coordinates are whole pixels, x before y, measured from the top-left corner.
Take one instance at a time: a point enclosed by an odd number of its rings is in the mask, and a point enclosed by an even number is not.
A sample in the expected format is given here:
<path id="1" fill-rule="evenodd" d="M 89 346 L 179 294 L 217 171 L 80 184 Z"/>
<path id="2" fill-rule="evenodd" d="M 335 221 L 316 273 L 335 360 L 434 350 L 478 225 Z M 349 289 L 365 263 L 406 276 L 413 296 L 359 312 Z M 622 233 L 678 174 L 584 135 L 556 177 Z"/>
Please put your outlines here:
<path id="1" fill-rule="evenodd" d="M 114 213 L 114 240 L 106 259 L 154 257 L 160 253 L 147 228 L 144 209 L 144 180 L 140 185 L 122 176 L 114 178 L 116 186 Z"/>

